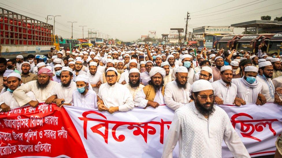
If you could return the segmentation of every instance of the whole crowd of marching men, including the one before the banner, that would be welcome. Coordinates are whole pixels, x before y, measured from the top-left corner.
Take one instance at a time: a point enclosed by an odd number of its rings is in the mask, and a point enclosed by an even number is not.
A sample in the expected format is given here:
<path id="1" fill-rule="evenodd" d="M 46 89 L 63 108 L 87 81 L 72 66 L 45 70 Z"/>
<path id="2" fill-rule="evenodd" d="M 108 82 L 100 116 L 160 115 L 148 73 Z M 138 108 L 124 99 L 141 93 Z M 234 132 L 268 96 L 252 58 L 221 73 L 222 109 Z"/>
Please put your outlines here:
<path id="1" fill-rule="evenodd" d="M 222 140 L 235 157 L 249 157 L 229 117 L 214 103 L 282 105 L 281 58 L 263 53 L 261 46 L 258 52 L 136 44 L 52 47 L 48 56 L 30 54 L 26 61 L 21 55 L 0 58 L 0 107 L 7 112 L 45 102 L 115 113 L 166 105 L 175 117 L 164 157 L 172 157 L 177 141 L 182 157 L 220 157 Z"/>

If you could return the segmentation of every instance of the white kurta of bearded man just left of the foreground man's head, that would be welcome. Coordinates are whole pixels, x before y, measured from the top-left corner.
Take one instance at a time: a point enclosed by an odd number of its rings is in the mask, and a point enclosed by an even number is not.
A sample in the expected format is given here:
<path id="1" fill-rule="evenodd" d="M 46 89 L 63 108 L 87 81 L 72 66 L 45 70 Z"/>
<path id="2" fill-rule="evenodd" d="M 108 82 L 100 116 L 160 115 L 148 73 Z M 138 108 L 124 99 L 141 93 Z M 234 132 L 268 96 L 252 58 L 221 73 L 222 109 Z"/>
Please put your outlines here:
<path id="1" fill-rule="evenodd" d="M 169 82 L 164 89 L 164 102 L 172 110 L 177 110 L 182 104 L 188 104 L 191 100 L 190 83 L 187 82 L 186 89 L 179 88 L 176 81 Z"/>

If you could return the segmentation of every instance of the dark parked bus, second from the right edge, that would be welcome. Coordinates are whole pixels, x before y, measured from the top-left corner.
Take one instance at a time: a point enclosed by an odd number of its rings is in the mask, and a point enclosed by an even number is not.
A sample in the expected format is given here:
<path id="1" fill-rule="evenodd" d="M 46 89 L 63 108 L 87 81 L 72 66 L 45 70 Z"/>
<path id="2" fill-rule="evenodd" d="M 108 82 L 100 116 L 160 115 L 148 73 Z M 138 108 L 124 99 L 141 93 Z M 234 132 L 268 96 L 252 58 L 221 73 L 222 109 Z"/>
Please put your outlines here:
<path id="1" fill-rule="evenodd" d="M 242 36 L 236 44 L 236 50 L 244 50 L 249 51 L 251 53 L 258 51 L 258 46 L 261 44 L 263 47 L 261 48 L 262 52 L 266 52 L 268 40 L 273 36 L 272 33 L 264 33 L 264 34 L 255 34 L 255 35 L 244 35 Z"/>

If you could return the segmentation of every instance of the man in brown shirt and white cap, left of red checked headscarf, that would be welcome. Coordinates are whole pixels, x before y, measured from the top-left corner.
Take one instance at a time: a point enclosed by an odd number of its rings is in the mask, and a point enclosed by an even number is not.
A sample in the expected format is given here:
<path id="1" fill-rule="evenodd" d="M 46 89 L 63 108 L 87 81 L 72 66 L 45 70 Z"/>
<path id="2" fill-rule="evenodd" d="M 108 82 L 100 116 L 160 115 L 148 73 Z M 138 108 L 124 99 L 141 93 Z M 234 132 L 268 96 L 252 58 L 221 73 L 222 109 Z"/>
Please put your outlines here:
<path id="1" fill-rule="evenodd" d="M 21 80 L 23 81 L 23 84 L 37 80 L 37 75 L 30 73 L 30 63 L 29 62 L 23 62 L 22 64 L 22 73 L 21 73 Z"/>

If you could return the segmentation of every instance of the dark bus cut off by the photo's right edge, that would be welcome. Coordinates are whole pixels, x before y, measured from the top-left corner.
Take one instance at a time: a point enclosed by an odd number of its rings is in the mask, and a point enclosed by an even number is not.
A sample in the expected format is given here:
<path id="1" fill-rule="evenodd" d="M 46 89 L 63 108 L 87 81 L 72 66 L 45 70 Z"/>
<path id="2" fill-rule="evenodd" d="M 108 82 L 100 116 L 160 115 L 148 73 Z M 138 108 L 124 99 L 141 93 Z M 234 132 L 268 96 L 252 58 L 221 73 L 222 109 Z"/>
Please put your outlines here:
<path id="1" fill-rule="evenodd" d="M 267 44 L 267 54 L 273 54 L 277 52 L 278 55 L 282 54 L 282 32 L 272 36 Z"/>

